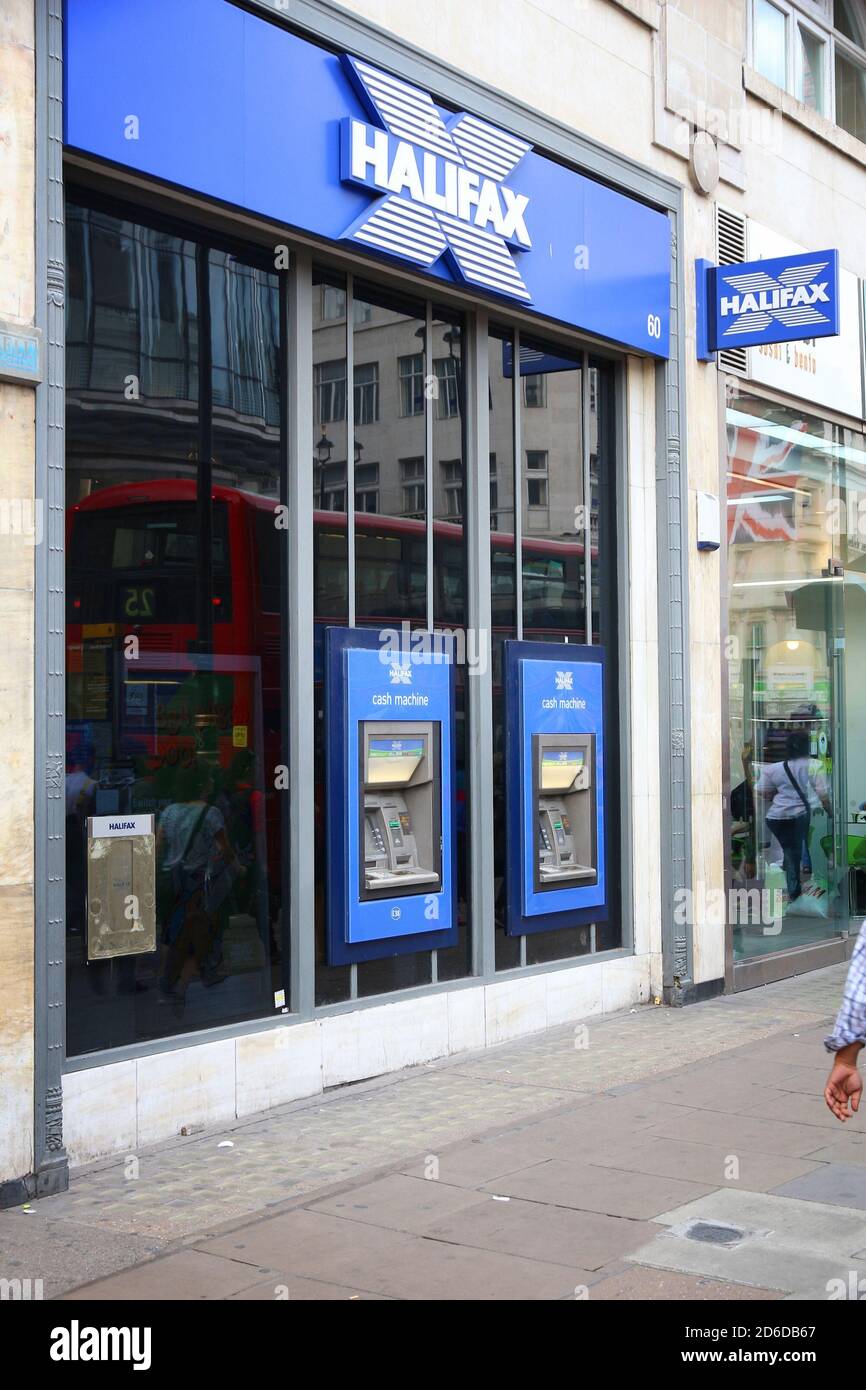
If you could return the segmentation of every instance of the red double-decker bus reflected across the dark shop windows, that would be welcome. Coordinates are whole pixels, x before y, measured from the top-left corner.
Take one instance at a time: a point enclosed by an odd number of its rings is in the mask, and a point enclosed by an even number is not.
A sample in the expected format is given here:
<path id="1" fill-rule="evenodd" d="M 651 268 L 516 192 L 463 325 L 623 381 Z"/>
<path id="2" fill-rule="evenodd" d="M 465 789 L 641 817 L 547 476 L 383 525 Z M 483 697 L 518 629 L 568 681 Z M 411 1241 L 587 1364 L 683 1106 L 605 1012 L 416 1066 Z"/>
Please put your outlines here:
<path id="1" fill-rule="evenodd" d="M 281 594 L 291 543 L 275 507 L 274 498 L 215 485 L 200 509 L 196 481 L 171 478 L 103 488 L 67 514 L 68 758 L 93 774 L 95 810 L 158 816 L 177 794 L 178 769 L 210 763 L 215 784 L 240 783 L 254 801 L 256 855 L 271 873 L 281 860 L 274 769 L 285 760 Z M 313 541 L 320 681 L 321 634 L 345 623 L 349 606 L 346 514 L 316 512 Z M 524 538 L 525 637 L 581 639 L 582 549 L 571 539 Z M 359 513 L 354 560 L 359 624 L 425 626 L 423 520 Z M 459 524 L 434 523 L 432 574 L 436 623 L 457 630 L 466 612 Z M 496 637 L 514 632 L 517 575 L 514 537 L 493 532 L 492 652 L 471 656 L 492 655 L 495 687 Z M 317 819 L 320 796 L 317 788 Z"/>

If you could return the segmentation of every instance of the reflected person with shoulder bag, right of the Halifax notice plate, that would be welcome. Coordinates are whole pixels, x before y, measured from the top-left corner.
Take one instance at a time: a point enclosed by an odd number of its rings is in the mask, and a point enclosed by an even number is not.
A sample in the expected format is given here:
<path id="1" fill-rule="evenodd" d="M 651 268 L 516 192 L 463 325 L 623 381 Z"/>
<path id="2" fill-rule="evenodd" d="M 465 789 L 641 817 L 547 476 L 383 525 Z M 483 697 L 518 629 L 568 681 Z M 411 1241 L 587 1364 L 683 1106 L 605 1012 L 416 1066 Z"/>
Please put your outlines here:
<path id="1" fill-rule="evenodd" d="M 178 801 L 167 806 L 157 830 L 157 863 L 168 892 L 165 941 L 168 954 L 160 980 L 164 995 L 182 999 L 195 973 L 204 984 L 218 984 L 227 972 L 214 959 L 214 884 L 238 859 L 225 834 L 222 812 L 207 801 L 211 776 L 200 764 L 178 773 Z"/>

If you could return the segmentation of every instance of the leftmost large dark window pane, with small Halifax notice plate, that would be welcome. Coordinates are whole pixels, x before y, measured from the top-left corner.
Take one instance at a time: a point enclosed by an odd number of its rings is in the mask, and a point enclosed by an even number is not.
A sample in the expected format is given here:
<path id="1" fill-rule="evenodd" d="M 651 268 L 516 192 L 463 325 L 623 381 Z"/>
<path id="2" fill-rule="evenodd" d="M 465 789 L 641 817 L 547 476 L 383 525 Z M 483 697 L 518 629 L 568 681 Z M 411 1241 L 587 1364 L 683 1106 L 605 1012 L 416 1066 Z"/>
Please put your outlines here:
<path id="1" fill-rule="evenodd" d="M 76 1056 L 272 1013 L 288 986 L 285 802 L 274 791 L 286 760 L 286 556 L 274 525 L 277 277 L 254 254 L 126 211 L 72 200 L 67 227 L 76 345 L 67 1051 Z M 114 816 L 133 821 L 129 838 L 100 838 L 100 817 Z"/>

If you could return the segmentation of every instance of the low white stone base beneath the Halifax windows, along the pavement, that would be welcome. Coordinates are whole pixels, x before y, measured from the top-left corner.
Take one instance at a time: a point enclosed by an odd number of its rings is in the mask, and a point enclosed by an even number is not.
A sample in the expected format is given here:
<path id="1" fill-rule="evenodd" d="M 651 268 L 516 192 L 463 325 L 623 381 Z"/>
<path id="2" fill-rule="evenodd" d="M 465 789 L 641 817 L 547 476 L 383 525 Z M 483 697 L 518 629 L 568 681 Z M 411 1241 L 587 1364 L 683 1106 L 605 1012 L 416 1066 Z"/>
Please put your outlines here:
<path id="1" fill-rule="evenodd" d="M 135 1152 L 335 1086 L 648 1004 L 659 980 L 660 956 L 620 956 L 79 1065 L 64 1077 L 65 1148 L 72 1166 Z"/>

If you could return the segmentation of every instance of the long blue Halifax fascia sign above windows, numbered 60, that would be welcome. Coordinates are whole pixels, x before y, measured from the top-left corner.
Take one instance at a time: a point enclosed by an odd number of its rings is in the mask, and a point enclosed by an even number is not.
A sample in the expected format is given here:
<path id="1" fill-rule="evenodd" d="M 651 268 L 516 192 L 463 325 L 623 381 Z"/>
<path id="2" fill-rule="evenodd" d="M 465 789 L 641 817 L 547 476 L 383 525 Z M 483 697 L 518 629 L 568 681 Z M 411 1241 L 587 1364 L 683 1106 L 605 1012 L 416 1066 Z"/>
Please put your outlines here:
<path id="1" fill-rule="evenodd" d="M 228 0 L 65 0 L 70 147 L 669 354 L 667 214 Z"/>

